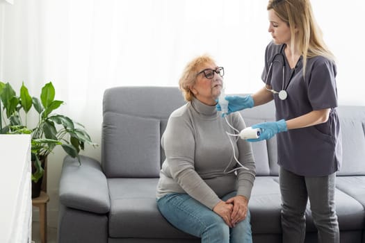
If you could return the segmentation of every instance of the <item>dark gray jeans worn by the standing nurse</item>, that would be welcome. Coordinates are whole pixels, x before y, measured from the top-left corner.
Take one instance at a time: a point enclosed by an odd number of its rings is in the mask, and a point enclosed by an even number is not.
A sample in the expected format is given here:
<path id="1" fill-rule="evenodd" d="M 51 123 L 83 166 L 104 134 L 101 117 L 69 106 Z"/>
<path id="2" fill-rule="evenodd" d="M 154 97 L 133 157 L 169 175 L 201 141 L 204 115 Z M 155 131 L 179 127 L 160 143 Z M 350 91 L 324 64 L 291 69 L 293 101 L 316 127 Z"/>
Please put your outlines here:
<path id="1" fill-rule="evenodd" d="M 309 198 L 318 242 L 339 243 L 339 223 L 334 206 L 335 174 L 298 176 L 280 167 L 283 243 L 305 241 L 305 208 Z"/>

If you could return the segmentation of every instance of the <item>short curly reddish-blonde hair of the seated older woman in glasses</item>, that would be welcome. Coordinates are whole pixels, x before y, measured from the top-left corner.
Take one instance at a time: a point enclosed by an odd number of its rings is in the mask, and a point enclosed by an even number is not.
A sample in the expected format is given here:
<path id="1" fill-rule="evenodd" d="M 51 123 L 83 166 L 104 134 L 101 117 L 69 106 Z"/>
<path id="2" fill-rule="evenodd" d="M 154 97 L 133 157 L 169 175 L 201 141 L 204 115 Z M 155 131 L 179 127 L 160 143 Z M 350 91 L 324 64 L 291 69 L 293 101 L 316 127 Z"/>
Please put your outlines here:
<path id="1" fill-rule="evenodd" d="M 202 68 L 202 65 L 206 63 L 211 64 L 216 63 L 216 61 L 208 54 L 204 54 L 202 56 L 197 56 L 186 65 L 184 72 L 179 79 L 179 88 L 186 101 L 193 100 L 194 94 L 191 92 L 190 87 L 195 85 L 197 73 L 201 71 L 200 69 Z"/>

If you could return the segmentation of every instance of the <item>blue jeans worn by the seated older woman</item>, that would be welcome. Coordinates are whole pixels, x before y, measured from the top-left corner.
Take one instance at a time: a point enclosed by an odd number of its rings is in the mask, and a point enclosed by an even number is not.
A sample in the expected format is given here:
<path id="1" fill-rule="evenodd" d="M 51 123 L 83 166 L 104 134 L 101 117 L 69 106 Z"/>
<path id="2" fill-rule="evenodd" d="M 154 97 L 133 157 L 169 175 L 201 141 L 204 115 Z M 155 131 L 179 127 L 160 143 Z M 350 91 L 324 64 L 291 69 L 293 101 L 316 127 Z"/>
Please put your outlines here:
<path id="1" fill-rule="evenodd" d="M 236 195 L 231 192 L 223 201 Z M 188 194 L 173 193 L 157 200 L 157 206 L 170 224 L 190 235 L 202 238 L 202 243 L 252 243 L 250 211 L 245 220 L 229 228 L 225 221 Z"/>

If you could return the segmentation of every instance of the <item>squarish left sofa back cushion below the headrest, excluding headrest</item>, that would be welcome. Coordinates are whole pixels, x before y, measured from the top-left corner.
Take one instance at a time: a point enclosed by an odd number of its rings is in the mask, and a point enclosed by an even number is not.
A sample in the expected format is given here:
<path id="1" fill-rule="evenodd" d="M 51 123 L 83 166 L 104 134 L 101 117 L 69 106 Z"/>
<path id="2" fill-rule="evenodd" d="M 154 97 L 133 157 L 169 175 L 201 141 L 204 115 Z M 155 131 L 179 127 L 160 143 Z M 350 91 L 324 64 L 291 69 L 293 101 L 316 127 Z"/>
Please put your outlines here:
<path id="1" fill-rule="evenodd" d="M 108 177 L 159 174 L 159 119 L 106 112 L 103 130 L 103 159 L 115 161 L 104 164 Z"/>

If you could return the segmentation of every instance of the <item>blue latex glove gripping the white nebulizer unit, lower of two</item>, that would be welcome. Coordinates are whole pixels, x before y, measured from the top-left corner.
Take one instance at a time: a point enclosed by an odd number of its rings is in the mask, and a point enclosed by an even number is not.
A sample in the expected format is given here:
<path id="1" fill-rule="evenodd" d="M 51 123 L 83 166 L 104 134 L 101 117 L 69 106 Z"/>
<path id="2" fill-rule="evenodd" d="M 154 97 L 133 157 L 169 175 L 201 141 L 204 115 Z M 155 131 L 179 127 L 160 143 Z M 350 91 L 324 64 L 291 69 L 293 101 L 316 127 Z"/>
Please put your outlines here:
<path id="1" fill-rule="evenodd" d="M 260 137 L 257 139 L 249 139 L 248 142 L 259 142 L 261 140 L 268 140 L 275 136 L 277 133 L 286 132 L 288 128 L 286 126 L 286 121 L 281 119 L 279 121 L 269 121 L 256 124 L 251 126 L 252 128 L 260 128 Z"/>

